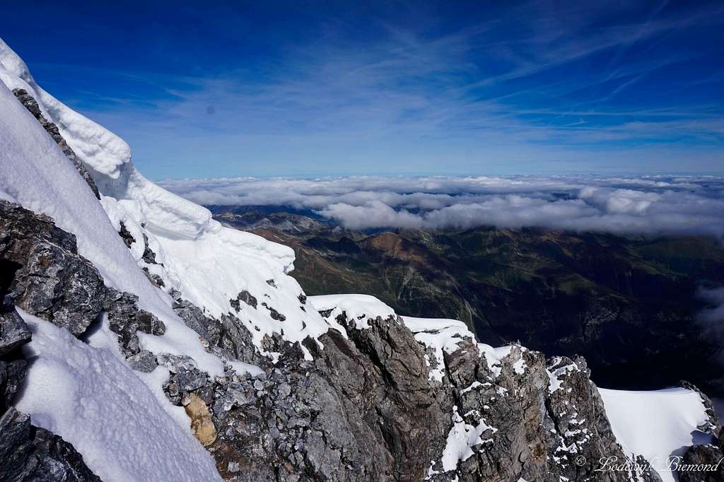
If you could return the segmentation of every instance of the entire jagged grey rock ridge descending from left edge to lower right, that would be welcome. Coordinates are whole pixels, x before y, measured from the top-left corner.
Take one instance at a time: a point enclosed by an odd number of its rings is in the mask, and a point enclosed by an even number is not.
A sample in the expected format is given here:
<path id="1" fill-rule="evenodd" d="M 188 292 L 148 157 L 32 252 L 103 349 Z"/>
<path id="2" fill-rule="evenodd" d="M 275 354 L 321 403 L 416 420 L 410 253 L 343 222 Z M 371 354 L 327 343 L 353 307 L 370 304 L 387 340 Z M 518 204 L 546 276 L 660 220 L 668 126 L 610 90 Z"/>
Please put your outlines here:
<path id="1" fill-rule="evenodd" d="M 321 346 L 306 340 L 313 360 L 305 359 L 299 344 L 267 339 L 282 356 L 274 365 L 265 363 L 264 372 L 229 368 L 224 378 L 211 380 L 188 357 L 140 357 L 133 337 L 138 329 L 158 329 L 155 317 L 139 310 L 132 295 L 106 288 L 76 254 L 72 235 L 47 216 L 7 202 L 0 207 L 4 262 L 19 266 L 6 284 L 19 305 L 77 336 L 104 311 L 132 364 L 146 358 L 151 366 L 169 367 L 167 397 L 186 407 L 197 438 L 228 480 L 585 480 L 592 477 L 593 462 L 577 465 L 573 456 L 623 457 L 583 360 L 547 362 L 515 346 L 495 365 L 463 332 L 455 350 L 444 352 L 445 377 L 437 381 L 429 376 L 429 350 L 395 316 L 370 316 L 360 329 L 359 320 L 340 314 L 344 333 L 330 330 L 319 339 Z M 34 262 L 37 253 L 43 253 L 43 263 Z M 47 282 L 22 283 L 33 276 Z M 88 296 L 59 297 L 67 286 Z M 209 350 L 258 361 L 245 350 L 244 337 L 221 335 L 218 320 L 183 300 L 177 300 L 177 310 L 186 313 Z M 57 313 L 76 313 L 70 318 L 85 321 L 69 325 L 69 316 Z M 226 324 L 245 331 L 233 316 Z M 16 340 L 29 339 L 17 314 L 6 316 L 2 326 L 11 351 Z M 11 390 L 18 385 L 17 379 L 6 384 Z M 12 418 L 22 422 L 20 415 Z"/>

